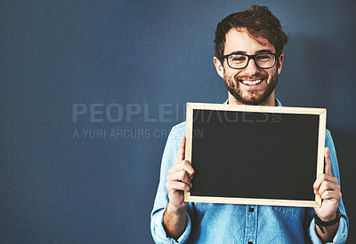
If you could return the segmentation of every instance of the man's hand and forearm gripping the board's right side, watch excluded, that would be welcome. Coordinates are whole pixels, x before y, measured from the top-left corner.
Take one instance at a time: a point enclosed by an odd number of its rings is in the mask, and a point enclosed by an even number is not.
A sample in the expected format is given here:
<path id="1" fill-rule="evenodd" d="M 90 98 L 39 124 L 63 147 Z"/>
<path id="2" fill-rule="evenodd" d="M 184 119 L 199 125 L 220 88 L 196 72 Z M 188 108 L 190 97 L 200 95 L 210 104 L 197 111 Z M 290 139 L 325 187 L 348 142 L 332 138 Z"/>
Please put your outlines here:
<path id="1" fill-rule="evenodd" d="M 341 192 L 339 181 L 331 174 L 331 161 L 328 147 L 324 150 L 324 174 L 320 175 L 314 182 L 314 193 L 320 195 L 323 200 L 320 208 L 314 208 L 315 214 L 322 221 L 328 222 L 336 218 L 336 210 L 339 207 L 341 200 Z M 338 223 L 332 226 L 324 227 L 325 234 L 320 232 L 319 227 L 316 227 L 320 239 L 323 241 L 332 241 Z"/>

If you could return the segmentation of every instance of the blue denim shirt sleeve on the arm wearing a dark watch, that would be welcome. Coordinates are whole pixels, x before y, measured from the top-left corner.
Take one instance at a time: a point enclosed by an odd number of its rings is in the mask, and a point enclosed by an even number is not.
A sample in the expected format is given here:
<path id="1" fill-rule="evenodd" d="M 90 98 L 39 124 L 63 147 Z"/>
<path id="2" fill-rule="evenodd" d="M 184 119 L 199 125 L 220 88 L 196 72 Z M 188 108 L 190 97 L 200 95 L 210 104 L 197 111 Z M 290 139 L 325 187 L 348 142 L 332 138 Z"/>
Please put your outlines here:
<path id="1" fill-rule="evenodd" d="M 326 131 L 325 134 L 325 146 L 328 147 L 329 152 L 330 152 L 330 160 L 331 160 L 331 173 L 333 174 L 333 177 L 337 177 L 339 180 L 339 184 L 341 185 L 340 182 L 340 172 L 339 172 L 339 166 L 337 163 L 337 158 L 336 158 L 336 150 L 334 146 L 333 139 L 331 137 L 331 133 L 329 130 Z M 337 229 L 336 235 L 334 237 L 333 242 L 328 242 L 328 243 L 345 243 L 346 238 L 347 238 L 347 233 L 349 230 L 349 218 L 346 216 L 346 210 L 344 208 L 344 201 L 341 199 L 340 204 L 339 204 L 339 209 L 342 217 L 340 218 L 340 223 L 339 227 Z M 310 211 L 311 214 L 314 214 L 314 210 Z M 312 240 L 312 243 L 322 243 L 321 240 L 318 237 L 318 234 L 315 230 L 316 227 L 315 220 L 312 218 L 312 222 L 309 225 L 308 232 L 309 236 Z"/>

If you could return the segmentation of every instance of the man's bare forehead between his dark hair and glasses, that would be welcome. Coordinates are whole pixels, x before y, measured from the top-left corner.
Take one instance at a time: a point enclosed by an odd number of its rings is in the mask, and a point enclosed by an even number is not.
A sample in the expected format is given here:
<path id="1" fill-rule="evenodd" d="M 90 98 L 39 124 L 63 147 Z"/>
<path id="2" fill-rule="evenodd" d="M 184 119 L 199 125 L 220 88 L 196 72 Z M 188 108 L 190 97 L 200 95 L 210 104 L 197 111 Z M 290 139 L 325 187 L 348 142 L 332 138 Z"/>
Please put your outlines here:
<path id="1" fill-rule="evenodd" d="M 231 28 L 226 33 L 224 55 L 234 51 L 246 51 L 247 54 L 255 54 L 256 51 L 269 50 L 275 52 L 273 45 L 265 38 L 253 38 L 248 35 L 246 28 Z"/>

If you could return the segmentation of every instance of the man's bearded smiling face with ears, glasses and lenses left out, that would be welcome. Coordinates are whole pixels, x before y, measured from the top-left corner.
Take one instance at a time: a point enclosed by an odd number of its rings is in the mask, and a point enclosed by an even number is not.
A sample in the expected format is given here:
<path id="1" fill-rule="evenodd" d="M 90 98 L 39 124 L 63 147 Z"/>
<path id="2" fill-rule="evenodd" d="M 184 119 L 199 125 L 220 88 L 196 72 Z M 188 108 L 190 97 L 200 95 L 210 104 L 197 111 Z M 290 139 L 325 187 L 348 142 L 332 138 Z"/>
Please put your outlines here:
<path id="1" fill-rule="evenodd" d="M 275 53 L 274 46 L 262 37 L 257 42 L 248 35 L 246 28 L 239 28 L 239 30 L 232 28 L 226 34 L 224 55 L 231 53 L 254 55 L 262 52 Z M 223 61 L 223 66 L 216 67 L 220 64 L 217 59 L 214 59 L 214 63 L 218 74 L 223 77 L 226 88 L 238 103 L 263 105 L 269 100 L 274 102 L 274 88 L 278 83 L 283 55 L 277 59 L 279 64 L 277 65 L 276 60 L 276 65 L 267 69 L 257 67 L 254 59 L 250 59 L 247 67 L 242 69 L 229 67 L 226 59 Z"/>

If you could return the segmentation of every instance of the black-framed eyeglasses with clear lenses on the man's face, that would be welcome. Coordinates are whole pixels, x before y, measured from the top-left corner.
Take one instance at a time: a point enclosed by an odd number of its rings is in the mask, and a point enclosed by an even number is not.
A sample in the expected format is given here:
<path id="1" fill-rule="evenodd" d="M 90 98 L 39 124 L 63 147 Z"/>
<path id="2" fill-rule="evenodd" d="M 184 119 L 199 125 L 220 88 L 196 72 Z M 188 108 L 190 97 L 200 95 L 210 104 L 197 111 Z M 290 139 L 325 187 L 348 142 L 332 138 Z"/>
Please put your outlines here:
<path id="1" fill-rule="evenodd" d="M 277 55 L 274 53 L 259 53 L 255 55 L 231 53 L 223 56 L 228 61 L 228 66 L 236 69 L 247 67 L 250 59 L 255 60 L 256 67 L 270 68 L 276 64 L 276 57 Z"/>

